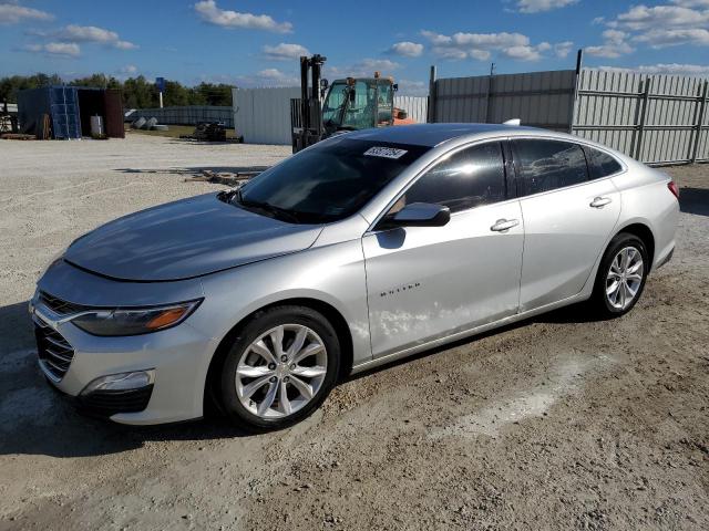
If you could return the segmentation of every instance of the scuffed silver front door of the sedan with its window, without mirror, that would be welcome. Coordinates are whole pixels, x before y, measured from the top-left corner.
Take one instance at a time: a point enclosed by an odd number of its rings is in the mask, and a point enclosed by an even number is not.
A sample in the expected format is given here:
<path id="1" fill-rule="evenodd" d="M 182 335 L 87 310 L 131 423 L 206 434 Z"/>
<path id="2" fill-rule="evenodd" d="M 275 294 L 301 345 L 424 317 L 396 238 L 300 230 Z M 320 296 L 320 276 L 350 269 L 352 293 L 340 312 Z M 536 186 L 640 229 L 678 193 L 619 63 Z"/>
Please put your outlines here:
<path id="1" fill-rule="evenodd" d="M 362 239 L 374 357 L 517 312 L 524 227 L 501 145 L 445 156 L 392 210 L 411 202 L 445 205 L 451 220 Z"/>

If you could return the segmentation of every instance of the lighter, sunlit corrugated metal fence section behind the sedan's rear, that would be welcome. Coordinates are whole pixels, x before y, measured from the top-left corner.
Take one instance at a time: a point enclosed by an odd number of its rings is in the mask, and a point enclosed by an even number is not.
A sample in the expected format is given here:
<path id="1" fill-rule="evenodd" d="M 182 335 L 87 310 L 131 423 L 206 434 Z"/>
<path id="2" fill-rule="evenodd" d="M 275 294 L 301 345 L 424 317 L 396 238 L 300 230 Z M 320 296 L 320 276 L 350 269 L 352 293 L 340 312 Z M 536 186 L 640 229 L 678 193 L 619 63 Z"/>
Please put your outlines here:
<path id="1" fill-rule="evenodd" d="M 650 164 L 709 160 L 699 77 L 585 69 L 572 132 Z"/>

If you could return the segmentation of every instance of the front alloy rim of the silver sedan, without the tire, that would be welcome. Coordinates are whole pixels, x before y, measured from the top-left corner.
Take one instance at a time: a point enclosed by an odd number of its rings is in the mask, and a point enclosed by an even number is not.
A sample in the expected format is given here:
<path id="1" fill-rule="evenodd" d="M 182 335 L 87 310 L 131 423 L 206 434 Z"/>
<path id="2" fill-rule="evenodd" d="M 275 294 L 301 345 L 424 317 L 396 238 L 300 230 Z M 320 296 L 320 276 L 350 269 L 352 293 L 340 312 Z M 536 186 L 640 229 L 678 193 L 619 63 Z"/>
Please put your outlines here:
<path id="1" fill-rule="evenodd" d="M 325 343 L 311 329 L 282 324 L 258 336 L 236 368 L 236 394 L 260 418 L 295 414 L 320 391 L 327 374 Z"/>

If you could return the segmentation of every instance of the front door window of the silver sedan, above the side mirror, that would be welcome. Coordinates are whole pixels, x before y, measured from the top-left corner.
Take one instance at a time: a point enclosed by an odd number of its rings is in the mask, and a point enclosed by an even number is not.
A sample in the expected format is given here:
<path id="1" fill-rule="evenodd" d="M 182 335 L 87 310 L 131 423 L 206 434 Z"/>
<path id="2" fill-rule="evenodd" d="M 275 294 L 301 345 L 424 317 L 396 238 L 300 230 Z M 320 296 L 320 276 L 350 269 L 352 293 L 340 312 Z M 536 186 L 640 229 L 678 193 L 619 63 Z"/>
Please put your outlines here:
<path id="1" fill-rule="evenodd" d="M 500 143 L 461 149 L 422 175 L 404 196 L 412 202 L 444 205 L 451 212 L 506 199 L 505 169 Z"/>

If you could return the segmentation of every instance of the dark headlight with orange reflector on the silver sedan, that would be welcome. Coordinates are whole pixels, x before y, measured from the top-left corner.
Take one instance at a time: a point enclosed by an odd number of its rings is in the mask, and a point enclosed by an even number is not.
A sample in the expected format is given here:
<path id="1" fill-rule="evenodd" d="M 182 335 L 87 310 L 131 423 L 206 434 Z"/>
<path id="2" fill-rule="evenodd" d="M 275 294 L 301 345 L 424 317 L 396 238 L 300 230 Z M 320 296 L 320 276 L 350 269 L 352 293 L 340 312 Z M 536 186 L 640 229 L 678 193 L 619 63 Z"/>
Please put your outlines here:
<path id="1" fill-rule="evenodd" d="M 138 335 L 169 329 L 182 323 L 202 300 L 165 306 L 95 310 L 71 320 L 84 332 L 93 335 Z"/>

